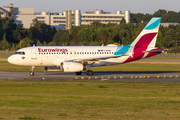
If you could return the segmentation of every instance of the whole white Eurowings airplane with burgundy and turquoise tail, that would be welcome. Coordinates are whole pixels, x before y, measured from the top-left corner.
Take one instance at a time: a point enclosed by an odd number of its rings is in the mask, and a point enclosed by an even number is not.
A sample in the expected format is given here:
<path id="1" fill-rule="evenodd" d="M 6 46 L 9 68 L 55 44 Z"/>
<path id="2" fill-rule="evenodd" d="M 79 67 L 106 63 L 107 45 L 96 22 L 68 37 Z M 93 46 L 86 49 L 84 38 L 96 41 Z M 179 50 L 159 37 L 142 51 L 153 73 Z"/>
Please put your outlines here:
<path id="1" fill-rule="evenodd" d="M 8 62 L 31 66 L 31 76 L 35 66 L 43 66 L 46 71 L 75 72 L 76 75 L 87 70 L 86 74 L 92 76 L 91 67 L 128 63 L 165 52 L 155 47 L 160 21 L 159 17 L 152 18 L 127 46 L 32 46 L 19 49 Z"/>

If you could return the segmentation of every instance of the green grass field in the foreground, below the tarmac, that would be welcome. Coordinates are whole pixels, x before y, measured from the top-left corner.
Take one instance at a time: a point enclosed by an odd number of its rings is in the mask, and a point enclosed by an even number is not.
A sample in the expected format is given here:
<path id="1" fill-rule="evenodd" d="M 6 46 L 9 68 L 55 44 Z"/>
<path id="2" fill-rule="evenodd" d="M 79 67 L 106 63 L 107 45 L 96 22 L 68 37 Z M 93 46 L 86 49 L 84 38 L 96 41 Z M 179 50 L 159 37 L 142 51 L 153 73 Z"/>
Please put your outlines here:
<path id="1" fill-rule="evenodd" d="M 180 84 L 0 80 L 1 119 L 180 119 Z"/>

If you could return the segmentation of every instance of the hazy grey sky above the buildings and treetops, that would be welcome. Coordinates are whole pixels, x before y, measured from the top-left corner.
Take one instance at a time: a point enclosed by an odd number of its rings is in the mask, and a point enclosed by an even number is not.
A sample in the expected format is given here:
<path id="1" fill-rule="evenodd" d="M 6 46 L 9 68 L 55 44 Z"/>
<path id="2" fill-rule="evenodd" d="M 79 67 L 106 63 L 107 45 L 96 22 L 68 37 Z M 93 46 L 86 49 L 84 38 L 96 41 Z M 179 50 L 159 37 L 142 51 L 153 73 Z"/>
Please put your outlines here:
<path id="1" fill-rule="evenodd" d="M 130 13 L 153 14 L 159 9 L 180 11 L 180 0 L 0 0 L 0 7 L 10 3 L 14 7 L 34 8 L 35 12 L 64 12 L 68 10 L 94 11 L 104 9 L 111 12 L 130 10 Z"/>

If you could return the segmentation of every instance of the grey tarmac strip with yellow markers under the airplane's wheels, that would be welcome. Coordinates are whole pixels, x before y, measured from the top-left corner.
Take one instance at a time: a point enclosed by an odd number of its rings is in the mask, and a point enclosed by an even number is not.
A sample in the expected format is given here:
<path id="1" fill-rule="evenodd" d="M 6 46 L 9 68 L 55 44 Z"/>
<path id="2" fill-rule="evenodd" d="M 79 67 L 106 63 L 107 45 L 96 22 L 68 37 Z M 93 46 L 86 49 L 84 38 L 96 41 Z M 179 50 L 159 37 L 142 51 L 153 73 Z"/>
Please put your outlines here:
<path id="1" fill-rule="evenodd" d="M 0 71 L 0 80 L 93 80 L 93 81 L 139 81 L 180 83 L 180 72 L 94 72 L 93 76 L 60 72 L 35 72 L 30 76 L 24 71 Z"/>

